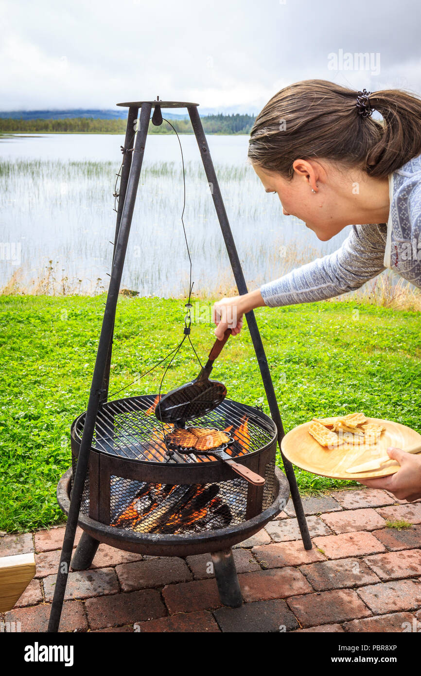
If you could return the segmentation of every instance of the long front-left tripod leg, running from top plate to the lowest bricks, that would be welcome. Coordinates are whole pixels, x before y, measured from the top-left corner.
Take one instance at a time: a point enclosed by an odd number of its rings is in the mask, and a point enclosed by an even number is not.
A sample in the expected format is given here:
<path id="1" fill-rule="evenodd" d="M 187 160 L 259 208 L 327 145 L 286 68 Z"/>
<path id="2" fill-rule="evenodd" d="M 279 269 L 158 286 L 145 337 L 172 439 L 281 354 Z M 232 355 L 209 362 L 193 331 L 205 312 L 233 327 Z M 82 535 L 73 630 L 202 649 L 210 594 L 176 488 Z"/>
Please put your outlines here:
<path id="1" fill-rule="evenodd" d="M 114 256 L 111 278 L 109 280 L 107 302 L 105 304 L 105 312 L 101 327 L 101 335 L 99 337 L 97 358 L 95 360 L 95 368 L 93 372 L 93 379 L 91 385 L 91 393 L 89 395 L 88 408 L 86 411 L 86 418 L 84 421 L 82 440 L 80 442 L 78 464 L 76 465 L 76 473 L 74 476 L 72 498 L 70 499 L 70 507 L 68 513 L 68 521 L 66 524 L 66 531 L 64 533 L 63 546 L 61 548 L 61 558 L 59 562 L 59 570 L 57 573 L 57 581 L 55 583 L 54 588 L 53 603 L 51 605 L 51 613 L 48 625 L 48 631 L 51 632 L 58 631 L 59 629 L 61 608 L 63 607 L 64 594 L 66 593 L 70 558 L 72 557 L 72 550 L 74 544 L 74 535 L 76 533 L 76 527 L 78 525 L 80 502 L 82 500 L 82 491 L 84 488 L 86 470 L 88 468 L 89 463 L 91 443 L 93 439 L 95 423 L 97 420 L 99 402 L 101 399 L 103 377 L 105 372 L 105 365 L 107 363 L 107 354 L 114 327 L 114 318 L 116 317 L 118 292 L 120 291 L 124 258 L 126 256 L 128 235 L 130 233 L 130 224 L 132 222 L 134 201 L 136 199 L 137 187 L 139 184 L 139 177 L 141 174 L 143 153 L 145 151 L 145 141 L 147 137 L 150 116 L 151 116 L 151 104 L 143 103 L 140 116 L 140 129 L 134 144 L 132 167 L 128 179 L 126 199 L 124 200 L 122 220 L 120 223 L 120 232 L 118 233 L 118 241 L 116 243 L 116 253 Z"/>

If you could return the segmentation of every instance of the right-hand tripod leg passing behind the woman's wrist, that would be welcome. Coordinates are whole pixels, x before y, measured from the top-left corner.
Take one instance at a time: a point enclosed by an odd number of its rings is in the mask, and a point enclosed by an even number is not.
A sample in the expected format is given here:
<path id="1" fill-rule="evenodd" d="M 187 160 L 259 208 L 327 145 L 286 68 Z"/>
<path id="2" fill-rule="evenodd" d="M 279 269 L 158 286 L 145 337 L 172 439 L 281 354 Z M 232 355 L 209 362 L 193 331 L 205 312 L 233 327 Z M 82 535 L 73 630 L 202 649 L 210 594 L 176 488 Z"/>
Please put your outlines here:
<path id="1" fill-rule="evenodd" d="M 205 173 L 207 176 L 207 180 L 209 182 L 209 187 L 211 188 L 212 199 L 214 200 L 216 214 L 220 222 L 222 236 L 224 237 L 226 251 L 230 259 L 232 272 L 234 272 L 235 282 L 237 284 L 237 288 L 239 289 L 239 293 L 243 295 L 243 293 L 247 293 L 247 285 L 245 283 L 243 268 L 241 268 L 241 262 L 239 259 L 239 255 L 237 253 L 237 248 L 234 243 L 234 237 L 232 237 L 232 231 L 230 228 L 230 224 L 228 222 L 228 216 L 226 215 L 224 202 L 222 200 L 220 187 L 218 185 L 218 179 L 216 178 L 214 164 L 212 162 L 212 158 L 209 153 L 209 147 L 207 145 L 205 132 L 203 131 L 203 126 L 199 117 L 199 112 L 197 111 L 197 107 L 195 106 L 188 107 L 187 110 L 189 111 L 189 116 L 191 119 L 191 124 L 193 126 L 193 131 L 195 132 L 197 145 L 199 145 L 199 151 L 201 154 L 203 167 L 205 168 Z M 272 376 L 270 375 L 268 360 L 266 359 L 266 354 L 262 343 L 262 337 L 260 336 L 259 327 L 257 327 L 254 312 L 247 312 L 245 317 L 247 319 L 247 326 L 249 327 L 251 340 L 253 341 L 253 347 L 255 349 L 257 363 L 259 364 L 260 373 L 262 375 L 262 381 L 264 384 L 266 398 L 268 400 L 270 408 L 270 414 L 272 415 L 274 423 L 278 428 L 278 443 L 280 448 L 280 441 L 284 436 L 284 429 L 282 426 L 278 402 L 276 401 L 276 394 L 272 383 Z M 291 496 L 293 498 L 295 512 L 297 514 L 297 521 L 299 524 L 301 537 L 303 539 L 303 545 L 305 549 L 309 550 L 312 548 L 312 541 L 310 539 L 310 535 L 308 532 L 307 521 L 305 520 L 305 514 L 303 510 L 303 504 L 301 503 L 301 498 L 297 487 L 297 479 L 295 478 L 291 462 L 286 460 L 286 458 L 284 458 L 284 467 L 285 474 L 287 475 L 287 479 L 289 481 L 291 489 Z"/>

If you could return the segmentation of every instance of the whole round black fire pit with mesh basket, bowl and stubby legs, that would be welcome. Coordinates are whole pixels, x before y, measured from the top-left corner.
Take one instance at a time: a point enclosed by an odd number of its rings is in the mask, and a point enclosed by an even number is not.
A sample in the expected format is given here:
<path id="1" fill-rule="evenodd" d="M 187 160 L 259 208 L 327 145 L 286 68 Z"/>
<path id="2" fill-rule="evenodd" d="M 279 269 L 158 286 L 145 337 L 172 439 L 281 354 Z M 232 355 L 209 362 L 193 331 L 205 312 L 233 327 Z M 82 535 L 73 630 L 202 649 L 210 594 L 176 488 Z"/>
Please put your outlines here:
<path id="1" fill-rule="evenodd" d="M 287 477 L 275 466 L 276 425 L 261 410 L 227 399 L 186 421 L 187 427 L 228 433 L 228 457 L 264 479 L 255 485 L 218 457 L 167 448 L 173 427 L 155 417 L 158 401 L 141 395 L 101 404 L 78 516 L 84 532 L 72 568 L 89 568 L 101 542 L 149 556 L 210 554 L 221 602 L 235 608 L 243 598 L 231 547 L 261 530 L 289 498 Z M 85 416 L 72 425 L 72 468 L 57 487 L 66 514 Z"/>

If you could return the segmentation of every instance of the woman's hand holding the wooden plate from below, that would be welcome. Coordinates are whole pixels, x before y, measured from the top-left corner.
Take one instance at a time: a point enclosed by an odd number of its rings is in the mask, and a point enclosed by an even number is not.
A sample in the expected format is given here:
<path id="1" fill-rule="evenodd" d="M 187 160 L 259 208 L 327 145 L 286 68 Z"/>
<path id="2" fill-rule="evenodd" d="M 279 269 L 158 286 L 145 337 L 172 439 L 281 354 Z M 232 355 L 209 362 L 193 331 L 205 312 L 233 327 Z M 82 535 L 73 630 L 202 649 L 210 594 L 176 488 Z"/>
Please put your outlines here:
<path id="1" fill-rule="evenodd" d="M 390 491 L 398 500 L 413 502 L 421 498 L 421 456 L 405 453 L 400 448 L 388 448 L 387 454 L 401 466 L 396 474 L 358 481 L 369 488 Z"/>

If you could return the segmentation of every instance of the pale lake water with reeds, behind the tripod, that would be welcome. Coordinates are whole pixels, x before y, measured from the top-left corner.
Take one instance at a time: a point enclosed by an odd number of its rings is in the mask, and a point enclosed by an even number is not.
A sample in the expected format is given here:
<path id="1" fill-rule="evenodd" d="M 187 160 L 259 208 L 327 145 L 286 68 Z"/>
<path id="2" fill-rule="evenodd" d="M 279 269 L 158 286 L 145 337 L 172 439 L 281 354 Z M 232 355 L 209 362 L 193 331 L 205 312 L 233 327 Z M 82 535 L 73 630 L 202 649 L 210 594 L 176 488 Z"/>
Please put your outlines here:
<path id="1" fill-rule="evenodd" d="M 224 293 L 232 272 L 194 136 L 180 136 L 186 168 L 184 224 L 196 291 Z M 207 137 L 249 287 L 335 250 L 283 216 L 247 164 L 247 136 Z M 0 137 L 0 285 L 28 290 L 107 288 L 116 213 L 119 135 Z M 147 139 L 122 285 L 142 295 L 185 295 L 189 260 L 182 224 L 182 165 L 175 135 Z M 52 261 L 52 264 L 49 263 Z M 52 268 L 48 270 L 48 268 Z"/>

